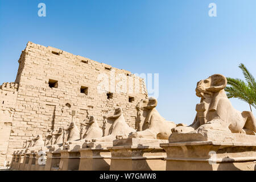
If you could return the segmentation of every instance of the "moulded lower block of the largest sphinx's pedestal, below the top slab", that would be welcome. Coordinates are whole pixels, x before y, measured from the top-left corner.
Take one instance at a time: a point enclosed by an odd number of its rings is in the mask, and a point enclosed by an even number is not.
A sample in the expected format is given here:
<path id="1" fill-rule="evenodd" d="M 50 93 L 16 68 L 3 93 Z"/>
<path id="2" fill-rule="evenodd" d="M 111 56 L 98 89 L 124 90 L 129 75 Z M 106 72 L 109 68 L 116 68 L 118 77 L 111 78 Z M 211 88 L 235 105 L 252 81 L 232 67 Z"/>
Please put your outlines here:
<path id="1" fill-rule="evenodd" d="M 250 139 L 255 139 L 254 136 Z M 160 144 L 166 151 L 166 170 L 243 170 L 256 167 L 256 143 L 176 142 Z"/>

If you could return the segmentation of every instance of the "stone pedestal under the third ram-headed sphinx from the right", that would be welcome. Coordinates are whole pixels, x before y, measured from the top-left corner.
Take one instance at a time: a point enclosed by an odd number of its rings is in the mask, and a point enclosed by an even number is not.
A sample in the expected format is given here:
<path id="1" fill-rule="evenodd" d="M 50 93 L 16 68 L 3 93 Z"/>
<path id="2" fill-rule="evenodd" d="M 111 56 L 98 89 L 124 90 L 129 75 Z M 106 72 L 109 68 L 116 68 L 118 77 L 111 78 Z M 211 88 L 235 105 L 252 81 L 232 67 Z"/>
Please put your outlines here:
<path id="1" fill-rule="evenodd" d="M 84 143 L 80 149 L 79 171 L 109 171 L 112 142 Z"/>

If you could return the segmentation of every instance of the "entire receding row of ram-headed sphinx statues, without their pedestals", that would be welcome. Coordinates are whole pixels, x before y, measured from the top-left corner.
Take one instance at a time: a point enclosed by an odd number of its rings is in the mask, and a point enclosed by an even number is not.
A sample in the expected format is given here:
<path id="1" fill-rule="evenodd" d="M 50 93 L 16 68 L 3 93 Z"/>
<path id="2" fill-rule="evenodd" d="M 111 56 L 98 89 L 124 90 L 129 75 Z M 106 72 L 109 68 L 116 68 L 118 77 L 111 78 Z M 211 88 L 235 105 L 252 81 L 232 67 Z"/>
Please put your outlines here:
<path id="1" fill-rule="evenodd" d="M 38 135 L 38 137 L 27 141 L 24 146 L 112 142 L 119 138 L 168 139 L 172 133 L 189 133 L 195 130 L 218 130 L 255 135 L 256 119 L 253 113 L 234 109 L 226 96 L 224 90 L 226 85 L 226 77 L 218 74 L 197 82 L 196 96 L 200 97 L 200 104 L 196 105 L 197 114 L 189 126 L 182 123 L 176 125 L 174 122 L 166 121 L 156 110 L 157 100 L 150 97 L 141 100 L 136 106 L 138 111 L 135 122 L 136 130 L 127 125 L 122 108 L 115 107 L 104 115 L 102 129 L 98 126 L 96 118 L 90 116 L 88 121 L 82 124 L 87 128 L 85 133 L 82 127 L 79 131 L 75 122 L 71 122 L 67 129 L 60 128 L 57 131 L 51 131 L 45 142 Z M 107 122 L 111 124 L 108 129 L 106 129 Z M 65 139 L 65 131 L 68 131 L 67 139 Z M 34 140 L 35 142 L 32 142 Z"/>

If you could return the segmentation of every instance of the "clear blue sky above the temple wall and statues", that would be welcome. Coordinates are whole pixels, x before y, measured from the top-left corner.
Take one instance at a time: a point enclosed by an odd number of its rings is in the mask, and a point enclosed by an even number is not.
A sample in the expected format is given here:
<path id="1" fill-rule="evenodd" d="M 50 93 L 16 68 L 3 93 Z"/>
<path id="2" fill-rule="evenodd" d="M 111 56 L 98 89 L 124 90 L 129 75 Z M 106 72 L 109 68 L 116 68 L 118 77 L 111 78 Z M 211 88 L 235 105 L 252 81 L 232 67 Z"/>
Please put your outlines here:
<path id="1" fill-rule="evenodd" d="M 46 17 L 38 16 L 40 2 Z M 217 17 L 208 15 L 212 2 Z M 15 81 L 31 41 L 132 73 L 159 73 L 159 113 L 190 124 L 197 81 L 215 73 L 243 78 L 240 63 L 256 77 L 255 7 L 255 0 L 0 0 L 0 82 Z"/>

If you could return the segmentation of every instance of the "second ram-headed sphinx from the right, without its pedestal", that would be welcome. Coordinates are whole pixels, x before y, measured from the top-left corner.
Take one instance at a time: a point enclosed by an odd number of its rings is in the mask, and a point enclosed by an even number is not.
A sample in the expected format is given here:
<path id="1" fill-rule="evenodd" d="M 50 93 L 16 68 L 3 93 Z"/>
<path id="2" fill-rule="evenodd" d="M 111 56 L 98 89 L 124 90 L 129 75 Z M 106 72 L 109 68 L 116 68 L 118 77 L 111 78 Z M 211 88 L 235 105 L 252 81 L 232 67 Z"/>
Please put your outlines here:
<path id="1" fill-rule="evenodd" d="M 153 98 L 147 98 L 145 100 L 141 100 L 141 102 L 138 103 L 137 109 L 139 112 L 141 110 L 146 113 L 146 118 L 144 119 L 144 122 L 141 121 L 139 125 L 139 128 L 145 128 L 144 131 L 137 131 L 135 133 L 131 133 L 129 135 L 130 138 L 151 138 L 151 139 L 168 139 L 171 132 L 171 129 L 176 127 L 176 124 L 174 122 L 166 121 L 159 113 L 158 110 L 156 110 L 156 105 L 158 104 L 158 101 Z M 141 114 L 138 114 L 139 117 L 141 117 Z"/>

